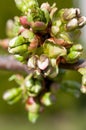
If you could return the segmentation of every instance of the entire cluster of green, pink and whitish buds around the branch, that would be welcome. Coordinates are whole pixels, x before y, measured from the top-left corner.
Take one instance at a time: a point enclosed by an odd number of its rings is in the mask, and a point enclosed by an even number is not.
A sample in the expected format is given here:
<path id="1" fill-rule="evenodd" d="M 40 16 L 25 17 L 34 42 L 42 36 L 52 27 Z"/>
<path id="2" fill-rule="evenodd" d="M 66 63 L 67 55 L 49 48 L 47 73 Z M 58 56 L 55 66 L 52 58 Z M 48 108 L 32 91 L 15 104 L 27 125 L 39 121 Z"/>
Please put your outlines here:
<path id="1" fill-rule="evenodd" d="M 81 16 L 78 8 L 58 10 L 56 4 L 39 6 L 36 0 L 15 0 L 15 3 L 22 16 L 7 22 L 11 39 L 8 51 L 34 71 L 26 78 L 12 76 L 11 80 L 20 87 L 7 91 L 3 97 L 9 104 L 23 99 L 29 120 L 35 122 L 44 106 L 53 102 L 49 84 L 58 78 L 59 64 L 76 63 L 82 53 L 82 45 L 75 43 L 74 35 L 86 24 L 86 17 Z M 79 70 L 83 75 L 81 90 L 85 92 L 86 72 L 82 71 Z"/>

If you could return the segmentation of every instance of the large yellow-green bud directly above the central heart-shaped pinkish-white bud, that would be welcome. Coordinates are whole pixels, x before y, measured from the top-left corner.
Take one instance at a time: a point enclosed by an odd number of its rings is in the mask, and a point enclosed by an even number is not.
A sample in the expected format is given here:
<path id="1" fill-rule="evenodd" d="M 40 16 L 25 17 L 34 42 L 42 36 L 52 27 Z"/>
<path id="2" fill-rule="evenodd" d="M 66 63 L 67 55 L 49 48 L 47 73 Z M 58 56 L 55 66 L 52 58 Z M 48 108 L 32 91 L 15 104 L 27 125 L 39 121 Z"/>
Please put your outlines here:
<path id="1" fill-rule="evenodd" d="M 51 58 L 65 56 L 67 53 L 65 47 L 55 45 L 50 41 L 45 41 L 45 43 L 43 44 L 43 51 L 44 54 Z"/>

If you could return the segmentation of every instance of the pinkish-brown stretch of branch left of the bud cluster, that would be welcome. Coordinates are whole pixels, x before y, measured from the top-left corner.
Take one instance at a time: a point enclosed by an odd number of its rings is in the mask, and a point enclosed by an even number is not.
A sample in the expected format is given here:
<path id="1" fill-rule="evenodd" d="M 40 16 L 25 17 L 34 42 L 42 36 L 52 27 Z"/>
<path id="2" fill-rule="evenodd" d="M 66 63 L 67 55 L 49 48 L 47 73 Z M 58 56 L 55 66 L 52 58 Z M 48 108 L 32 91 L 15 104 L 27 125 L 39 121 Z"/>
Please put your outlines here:
<path id="1" fill-rule="evenodd" d="M 0 69 L 26 72 L 27 74 L 33 71 L 29 70 L 26 65 L 16 61 L 13 56 L 0 56 Z"/>

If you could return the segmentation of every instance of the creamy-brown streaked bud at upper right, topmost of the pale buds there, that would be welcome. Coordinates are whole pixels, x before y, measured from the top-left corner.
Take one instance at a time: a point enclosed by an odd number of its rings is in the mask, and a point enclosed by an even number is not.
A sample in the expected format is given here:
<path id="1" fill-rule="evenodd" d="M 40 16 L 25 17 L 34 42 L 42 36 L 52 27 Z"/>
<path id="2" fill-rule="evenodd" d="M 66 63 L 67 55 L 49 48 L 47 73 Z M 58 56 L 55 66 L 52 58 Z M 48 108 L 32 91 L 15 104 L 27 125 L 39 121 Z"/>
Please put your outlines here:
<path id="1" fill-rule="evenodd" d="M 70 9 L 65 9 L 63 13 L 63 18 L 64 20 L 70 20 L 75 17 L 80 16 L 80 9 L 79 8 L 70 8 Z"/>

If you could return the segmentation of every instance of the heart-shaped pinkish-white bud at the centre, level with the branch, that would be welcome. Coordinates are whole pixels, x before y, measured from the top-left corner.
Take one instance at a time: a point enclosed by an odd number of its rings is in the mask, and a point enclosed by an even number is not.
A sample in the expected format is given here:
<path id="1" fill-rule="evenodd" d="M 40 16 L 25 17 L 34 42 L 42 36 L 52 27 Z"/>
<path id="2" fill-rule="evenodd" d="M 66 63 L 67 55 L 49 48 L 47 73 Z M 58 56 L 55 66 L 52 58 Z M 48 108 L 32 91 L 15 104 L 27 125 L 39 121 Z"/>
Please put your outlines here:
<path id="1" fill-rule="evenodd" d="M 41 55 L 37 61 L 39 69 L 45 70 L 49 66 L 49 58 L 46 55 Z"/>

